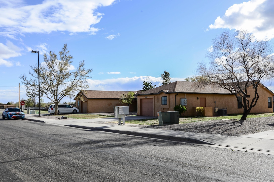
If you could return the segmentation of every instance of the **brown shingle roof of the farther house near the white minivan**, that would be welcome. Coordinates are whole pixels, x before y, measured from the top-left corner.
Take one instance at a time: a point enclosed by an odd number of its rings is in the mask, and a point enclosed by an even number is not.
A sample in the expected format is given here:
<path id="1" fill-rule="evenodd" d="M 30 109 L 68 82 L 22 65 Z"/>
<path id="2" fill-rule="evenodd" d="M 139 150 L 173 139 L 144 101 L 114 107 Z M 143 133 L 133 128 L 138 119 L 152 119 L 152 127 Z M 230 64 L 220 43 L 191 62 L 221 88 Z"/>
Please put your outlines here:
<path id="1" fill-rule="evenodd" d="M 88 99 L 120 99 L 128 92 L 137 93 L 137 91 L 102 91 L 102 90 L 84 90 L 84 96 Z"/>

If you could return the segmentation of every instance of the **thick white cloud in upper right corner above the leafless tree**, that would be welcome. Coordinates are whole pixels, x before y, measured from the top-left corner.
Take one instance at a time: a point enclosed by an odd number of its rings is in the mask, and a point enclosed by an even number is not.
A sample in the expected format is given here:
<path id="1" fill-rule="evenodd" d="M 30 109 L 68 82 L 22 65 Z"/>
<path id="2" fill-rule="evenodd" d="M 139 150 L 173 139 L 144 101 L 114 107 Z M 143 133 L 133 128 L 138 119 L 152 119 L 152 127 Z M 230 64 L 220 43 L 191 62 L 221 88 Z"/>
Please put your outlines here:
<path id="1" fill-rule="evenodd" d="M 257 39 L 274 38 L 274 1 L 250 0 L 234 4 L 222 17 L 217 17 L 209 28 L 248 30 Z"/>

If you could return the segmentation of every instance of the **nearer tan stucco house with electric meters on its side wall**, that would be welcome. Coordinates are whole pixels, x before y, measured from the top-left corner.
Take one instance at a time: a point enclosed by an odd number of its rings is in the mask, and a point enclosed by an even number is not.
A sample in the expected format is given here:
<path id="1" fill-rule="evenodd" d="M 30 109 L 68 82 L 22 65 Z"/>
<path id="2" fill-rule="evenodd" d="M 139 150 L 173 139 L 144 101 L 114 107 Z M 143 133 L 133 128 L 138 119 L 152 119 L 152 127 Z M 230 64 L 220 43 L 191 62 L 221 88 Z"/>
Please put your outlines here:
<path id="1" fill-rule="evenodd" d="M 248 95 L 252 95 L 250 89 L 247 92 Z M 262 84 L 258 87 L 258 93 L 258 102 L 250 113 L 272 113 L 274 93 Z M 139 92 L 135 96 L 137 96 L 138 103 L 137 115 L 140 116 L 157 116 L 159 111 L 174 111 L 175 105 L 179 104 L 187 107 L 184 116 L 197 116 L 196 107 L 212 107 L 210 110 L 212 110 L 213 116 L 217 115 L 216 109 L 223 108 L 226 109 L 227 114 L 243 112 L 243 108 L 238 105 L 235 95 L 228 90 L 211 86 L 201 89 L 195 86 L 194 82 L 188 81 L 175 81 Z"/>

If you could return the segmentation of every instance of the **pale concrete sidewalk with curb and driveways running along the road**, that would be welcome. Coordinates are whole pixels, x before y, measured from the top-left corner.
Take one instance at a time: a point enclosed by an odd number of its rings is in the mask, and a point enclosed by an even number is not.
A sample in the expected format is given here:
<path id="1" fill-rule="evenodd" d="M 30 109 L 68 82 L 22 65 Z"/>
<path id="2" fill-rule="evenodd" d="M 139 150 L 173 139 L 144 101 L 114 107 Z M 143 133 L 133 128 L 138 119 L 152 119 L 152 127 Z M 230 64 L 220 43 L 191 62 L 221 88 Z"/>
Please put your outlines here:
<path id="1" fill-rule="evenodd" d="M 150 116 L 145 116 L 145 118 L 147 117 Z M 145 118 L 143 118 L 142 116 L 128 116 L 125 117 L 125 120 Z M 33 117 L 33 115 L 26 115 L 25 119 L 29 121 L 45 122 L 50 124 L 64 125 L 89 130 L 99 130 L 156 139 L 189 142 L 232 150 L 274 155 L 274 130 L 244 136 L 228 136 L 220 134 L 191 133 L 185 131 L 138 128 L 130 127 L 130 125 L 106 125 L 92 123 L 98 121 L 118 121 L 117 118 L 56 120 Z"/>

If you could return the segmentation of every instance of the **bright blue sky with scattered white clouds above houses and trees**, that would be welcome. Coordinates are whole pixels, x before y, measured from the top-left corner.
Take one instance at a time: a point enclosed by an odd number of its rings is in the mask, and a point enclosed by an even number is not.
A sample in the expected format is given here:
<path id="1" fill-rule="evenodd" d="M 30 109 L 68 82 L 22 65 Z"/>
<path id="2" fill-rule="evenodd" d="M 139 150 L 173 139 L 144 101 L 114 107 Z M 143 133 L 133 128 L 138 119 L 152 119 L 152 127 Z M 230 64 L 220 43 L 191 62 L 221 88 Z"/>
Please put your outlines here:
<path id="1" fill-rule="evenodd" d="M 147 76 L 159 86 L 164 70 L 184 81 L 224 31 L 273 42 L 273 8 L 272 0 L 0 0 L 0 102 L 18 102 L 19 83 L 27 98 L 19 76 L 38 63 L 32 49 L 42 63 L 64 44 L 73 66 L 93 69 L 89 90 L 141 90 Z"/>

